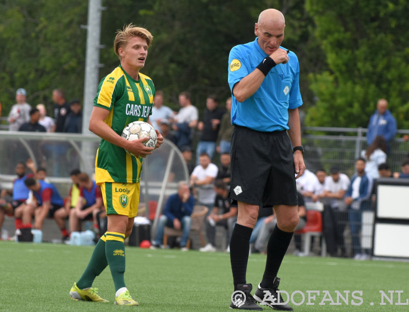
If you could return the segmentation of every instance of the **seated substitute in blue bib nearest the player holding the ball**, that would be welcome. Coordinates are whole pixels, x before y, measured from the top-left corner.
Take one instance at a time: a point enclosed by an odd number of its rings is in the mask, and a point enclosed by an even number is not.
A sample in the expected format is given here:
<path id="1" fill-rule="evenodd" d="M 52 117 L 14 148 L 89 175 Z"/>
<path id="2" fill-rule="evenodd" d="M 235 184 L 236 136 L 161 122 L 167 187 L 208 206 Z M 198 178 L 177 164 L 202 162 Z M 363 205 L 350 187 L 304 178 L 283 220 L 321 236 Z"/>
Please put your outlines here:
<path id="1" fill-rule="evenodd" d="M 84 172 L 78 174 L 78 184 L 80 194 L 77 204 L 70 210 L 70 232 L 81 231 L 81 220 L 93 219 L 94 228 L 99 233 L 97 214 L 101 212 L 101 207 L 103 207 L 101 189 Z"/>

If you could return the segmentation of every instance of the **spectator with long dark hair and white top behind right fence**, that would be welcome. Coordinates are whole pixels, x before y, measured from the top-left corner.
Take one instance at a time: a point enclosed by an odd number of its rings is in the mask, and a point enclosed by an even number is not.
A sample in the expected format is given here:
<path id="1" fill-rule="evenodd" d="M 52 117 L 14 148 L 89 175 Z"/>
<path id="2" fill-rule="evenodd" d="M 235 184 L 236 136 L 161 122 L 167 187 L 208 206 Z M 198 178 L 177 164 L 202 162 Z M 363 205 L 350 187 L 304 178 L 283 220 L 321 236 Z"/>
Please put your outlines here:
<path id="1" fill-rule="evenodd" d="M 367 150 L 361 151 L 361 158 L 366 160 L 365 172 L 372 177 L 378 179 L 378 166 L 387 161 L 388 144 L 382 136 L 376 136 L 375 140 Z"/>

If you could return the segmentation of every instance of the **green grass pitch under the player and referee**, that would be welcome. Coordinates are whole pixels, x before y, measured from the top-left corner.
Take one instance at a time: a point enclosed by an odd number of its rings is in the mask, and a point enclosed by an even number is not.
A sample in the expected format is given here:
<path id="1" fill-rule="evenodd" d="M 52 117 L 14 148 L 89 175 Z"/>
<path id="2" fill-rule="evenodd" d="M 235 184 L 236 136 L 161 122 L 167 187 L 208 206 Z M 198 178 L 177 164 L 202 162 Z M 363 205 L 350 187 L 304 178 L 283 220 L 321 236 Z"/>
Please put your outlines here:
<path id="1" fill-rule="evenodd" d="M 126 248 L 125 282 L 138 307 L 113 304 L 115 289 L 109 268 L 96 278 L 102 297 L 109 303 L 77 302 L 69 297 L 74 281 L 82 274 L 93 247 L 65 246 L 51 243 L 14 243 L 0 241 L 0 310 L 5 311 L 228 311 L 233 291 L 230 256 L 225 253 L 200 253 L 179 250 L 146 250 Z M 257 287 L 264 271 L 265 256 L 252 254 L 247 268 L 247 282 Z M 354 261 L 351 259 L 295 257 L 287 255 L 279 272 L 280 289 L 292 294 L 300 291 L 305 302 L 291 304 L 296 311 L 407 311 L 409 305 L 391 305 L 379 291 L 403 291 L 400 302 L 409 298 L 409 263 L 387 261 Z M 320 296 L 307 305 L 307 291 Z M 330 305 L 323 291 L 350 291 L 349 304 Z M 351 305 L 351 293 L 361 300 Z M 254 293 L 254 292 L 253 292 Z M 294 301 L 302 297 L 296 294 Z M 328 297 L 326 299 L 329 299 Z M 374 304 L 371 305 L 371 302 Z M 271 310 L 264 306 L 264 310 Z"/>

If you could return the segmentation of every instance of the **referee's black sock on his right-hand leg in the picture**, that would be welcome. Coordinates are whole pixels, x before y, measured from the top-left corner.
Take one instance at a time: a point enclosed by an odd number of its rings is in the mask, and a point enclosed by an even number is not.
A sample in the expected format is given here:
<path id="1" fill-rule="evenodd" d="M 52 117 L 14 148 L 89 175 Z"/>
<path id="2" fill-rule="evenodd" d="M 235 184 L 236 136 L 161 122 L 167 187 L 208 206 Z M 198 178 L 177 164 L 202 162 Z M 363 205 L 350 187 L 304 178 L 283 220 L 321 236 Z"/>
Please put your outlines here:
<path id="1" fill-rule="evenodd" d="M 284 255 L 290 244 L 292 234 L 294 234 L 294 232 L 288 233 L 281 231 L 277 225 L 274 230 L 272 230 L 270 239 L 267 243 L 267 260 L 260 287 L 272 287 L 274 278 L 277 276 L 281 262 L 283 261 Z"/>

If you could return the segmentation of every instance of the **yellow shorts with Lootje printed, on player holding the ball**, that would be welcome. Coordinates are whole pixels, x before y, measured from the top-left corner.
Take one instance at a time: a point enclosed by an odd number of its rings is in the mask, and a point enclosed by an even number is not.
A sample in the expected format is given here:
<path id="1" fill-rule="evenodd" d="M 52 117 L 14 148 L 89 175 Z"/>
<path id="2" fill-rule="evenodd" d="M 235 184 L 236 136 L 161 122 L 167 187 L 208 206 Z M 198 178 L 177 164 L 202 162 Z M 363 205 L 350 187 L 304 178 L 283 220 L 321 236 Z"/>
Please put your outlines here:
<path id="1" fill-rule="evenodd" d="M 140 183 L 104 182 L 101 185 L 106 214 L 135 217 L 138 213 Z"/>

